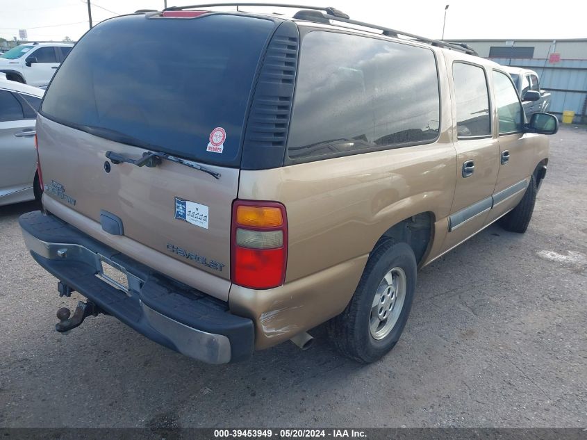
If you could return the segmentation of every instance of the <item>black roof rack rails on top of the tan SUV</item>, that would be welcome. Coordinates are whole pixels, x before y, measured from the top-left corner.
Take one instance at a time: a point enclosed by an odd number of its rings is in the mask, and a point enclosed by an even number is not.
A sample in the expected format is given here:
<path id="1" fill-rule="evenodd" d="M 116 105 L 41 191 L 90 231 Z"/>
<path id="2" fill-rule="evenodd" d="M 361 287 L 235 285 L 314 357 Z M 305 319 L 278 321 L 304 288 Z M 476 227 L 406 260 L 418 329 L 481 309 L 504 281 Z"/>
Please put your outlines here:
<path id="1" fill-rule="evenodd" d="M 385 26 L 379 26 L 377 24 L 358 22 L 357 20 L 350 19 L 349 15 L 343 13 L 342 11 L 340 11 L 336 8 L 332 8 L 332 7 L 303 6 L 303 5 L 281 4 L 281 3 L 249 3 L 249 2 L 245 2 L 245 3 L 206 3 L 206 4 L 201 4 L 201 5 L 170 6 L 169 8 L 165 8 L 164 11 L 166 11 L 166 10 L 193 9 L 193 8 L 214 8 L 217 6 L 236 6 L 237 8 L 238 8 L 238 6 L 274 6 L 274 7 L 279 7 L 279 8 L 301 9 L 301 11 L 299 11 L 301 14 L 296 14 L 297 17 L 294 15 L 294 18 L 305 19 L 309 22 L 323 23 L 324 20 L 332 20 L 335 22 L 353 24 L 354 26 L 361 26 L 364 28 L 377 29 L 378 31 L 382 31 L 383 35 L 388 35 L 390 37 L 399 38 L 401 35 L 404 38 L 406 38 L 406 37 L 411 38 L 412 40 L 431 44 L 432 46 L 445 47 L 447 49 L 452 49 L 452 50 L 464 52 L 465 54 L 477 55 L 476 51 L 474 51 L 470 47 L 463 47 L 463 45 L 461 45 L 459 43 L 445 42 L 445 41 L 441 41 L 441 40 L 433 40 L 432 38 L 425 38 L 420 35 L 415 35 L 413 33 L 396 31 L 395 29 L 387 28 Z M 321 14 L 321 13 L 310 14 L 309 13 L 310 10 L 324 11 L 326 13 L 326 15 Z"/>

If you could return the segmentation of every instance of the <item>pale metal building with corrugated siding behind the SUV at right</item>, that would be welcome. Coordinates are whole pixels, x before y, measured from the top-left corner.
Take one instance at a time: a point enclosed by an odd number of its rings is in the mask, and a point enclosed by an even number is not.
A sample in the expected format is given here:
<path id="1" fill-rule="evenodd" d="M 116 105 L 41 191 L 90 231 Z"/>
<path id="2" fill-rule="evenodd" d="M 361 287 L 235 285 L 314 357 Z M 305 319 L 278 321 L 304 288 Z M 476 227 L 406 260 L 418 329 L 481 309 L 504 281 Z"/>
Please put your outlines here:
<path id="1" fill-rule="evenodd" d="M 501 65 L 536 71 L 540 88 L 552 93 L 549 113 L 560 118 L 563 111 L 574 111 L 573 122 L 587 124 L 587 38 L 453 41 Z"/>

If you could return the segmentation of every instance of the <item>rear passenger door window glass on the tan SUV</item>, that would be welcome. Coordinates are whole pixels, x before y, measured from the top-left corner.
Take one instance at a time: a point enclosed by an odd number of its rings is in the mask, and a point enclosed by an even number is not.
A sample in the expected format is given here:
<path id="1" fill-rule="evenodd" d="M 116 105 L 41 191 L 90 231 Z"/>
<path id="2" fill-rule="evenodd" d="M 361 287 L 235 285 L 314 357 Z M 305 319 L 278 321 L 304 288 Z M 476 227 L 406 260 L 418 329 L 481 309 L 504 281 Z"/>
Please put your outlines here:
<path id="1" fill-rule="evenodd" d="M 454 63 L 452 75 L 458 138 L 490 135 L 491 116 L 485 71 L 479 66 Z"/>

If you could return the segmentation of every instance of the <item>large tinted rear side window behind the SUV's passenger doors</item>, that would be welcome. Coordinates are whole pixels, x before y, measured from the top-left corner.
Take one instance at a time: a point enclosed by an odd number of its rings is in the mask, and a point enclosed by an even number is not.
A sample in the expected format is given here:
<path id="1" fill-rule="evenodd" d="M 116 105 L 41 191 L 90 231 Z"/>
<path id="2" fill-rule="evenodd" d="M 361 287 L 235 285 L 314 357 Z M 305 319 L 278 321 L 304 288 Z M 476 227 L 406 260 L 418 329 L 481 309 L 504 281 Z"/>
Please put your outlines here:
<path id="1" fill-rule="evenodd" d="M 432 142 L 439 111 L 430 49 L 314 31 L 301 44 L 288 156 L 308 161 Z"/>

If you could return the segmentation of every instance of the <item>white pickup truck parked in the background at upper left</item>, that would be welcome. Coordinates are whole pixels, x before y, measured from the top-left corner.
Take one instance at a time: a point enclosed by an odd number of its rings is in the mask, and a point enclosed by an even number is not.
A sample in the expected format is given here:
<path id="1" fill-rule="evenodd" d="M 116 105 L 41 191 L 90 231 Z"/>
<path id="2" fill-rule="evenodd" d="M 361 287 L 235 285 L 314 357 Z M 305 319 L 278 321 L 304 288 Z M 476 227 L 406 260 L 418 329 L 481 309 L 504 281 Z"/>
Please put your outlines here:
<path id="1" fill-rule="evenodd" d="M 47 87 L 71 43 L 26 43 L 0 55 L 0 72 L 12 81 Z"/>

